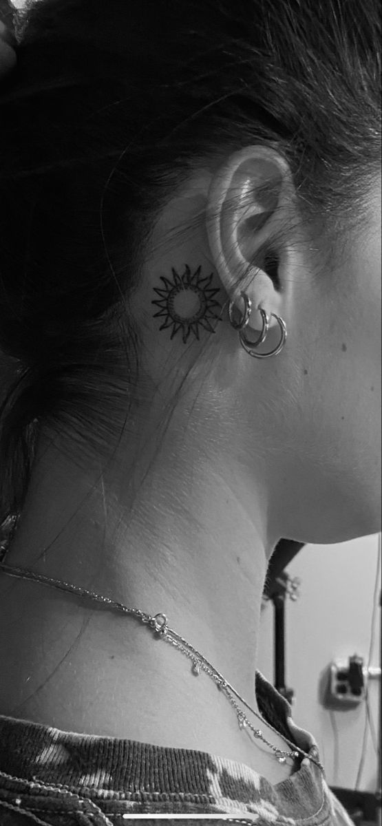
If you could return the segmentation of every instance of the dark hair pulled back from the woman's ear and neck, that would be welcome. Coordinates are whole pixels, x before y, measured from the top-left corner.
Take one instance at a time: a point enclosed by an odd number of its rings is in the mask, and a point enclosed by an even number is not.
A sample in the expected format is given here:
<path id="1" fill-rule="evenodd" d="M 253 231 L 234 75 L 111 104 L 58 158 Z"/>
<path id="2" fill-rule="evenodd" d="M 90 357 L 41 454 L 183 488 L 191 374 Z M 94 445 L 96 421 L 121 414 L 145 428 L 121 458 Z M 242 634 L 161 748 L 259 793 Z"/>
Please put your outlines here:
<path id="1" fill-rule="evenodd" d="M 0 93 L 0 522 L 41 422 L 107 444 L 138 382 L 155 215 L 246 145 L 289 162 L 334 244 L 380 162 L 380 0 L 36 0 Z M 121 369 L 120 369 L 121 368 Z"/>

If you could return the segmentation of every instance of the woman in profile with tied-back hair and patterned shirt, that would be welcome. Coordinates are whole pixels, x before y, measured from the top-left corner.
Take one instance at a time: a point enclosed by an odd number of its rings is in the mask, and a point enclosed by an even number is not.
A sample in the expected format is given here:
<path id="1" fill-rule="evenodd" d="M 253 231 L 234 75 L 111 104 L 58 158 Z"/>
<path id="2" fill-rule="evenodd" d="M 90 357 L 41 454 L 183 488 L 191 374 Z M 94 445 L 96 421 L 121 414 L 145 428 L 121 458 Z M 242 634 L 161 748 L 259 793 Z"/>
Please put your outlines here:
<path id="1" fill-rule="evenodd" d="M 349 824 L 257 648 L 279 539 L 380 530 L 379 3 L 15 21 L 2 823 Z"/>

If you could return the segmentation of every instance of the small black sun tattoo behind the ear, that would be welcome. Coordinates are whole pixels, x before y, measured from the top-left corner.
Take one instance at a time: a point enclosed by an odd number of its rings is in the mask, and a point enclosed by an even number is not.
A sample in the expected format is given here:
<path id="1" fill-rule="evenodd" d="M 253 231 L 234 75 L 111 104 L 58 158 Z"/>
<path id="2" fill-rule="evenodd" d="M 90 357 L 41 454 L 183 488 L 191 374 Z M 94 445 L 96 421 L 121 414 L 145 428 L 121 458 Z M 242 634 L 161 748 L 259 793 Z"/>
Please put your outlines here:
<path id="1" fill-rule="evenodd" d="M 209 289 L 213 273 L 202 277 L 201 266 L 194 273 L 191 273 L 187 264 L 182 275 L 179 275 L 174 267 L 171 270 L 174 281 L 169 281 L 168 278 L 161 275 L 160 280 L 163 281 L 165 289 L 159 290 L 154 287 L 155 292 L 160 296 L 160 301 L 151 301 L 151 304 L 160 307 L 160 311 L 155 312 L 154 318 L 160 316 L 165 319 L 160 326 L 160 330 L 165 330 L 172 325 L 170 338 L 173 339 L 174 335 L 181 329 L 184 344 L 186 344 L 191 331 L 199 340 L 198 325 L 204 327 L 204 330 L 208 330 L 209 333 L 214 333 L 215 330 L 211 326 L 210 320 L 217 319 L 221 321 L 222 319 L 213 311 L 214 307 L 221 307 L 219 302 L 213 298 L 219 292 L 218 287 Z"/>

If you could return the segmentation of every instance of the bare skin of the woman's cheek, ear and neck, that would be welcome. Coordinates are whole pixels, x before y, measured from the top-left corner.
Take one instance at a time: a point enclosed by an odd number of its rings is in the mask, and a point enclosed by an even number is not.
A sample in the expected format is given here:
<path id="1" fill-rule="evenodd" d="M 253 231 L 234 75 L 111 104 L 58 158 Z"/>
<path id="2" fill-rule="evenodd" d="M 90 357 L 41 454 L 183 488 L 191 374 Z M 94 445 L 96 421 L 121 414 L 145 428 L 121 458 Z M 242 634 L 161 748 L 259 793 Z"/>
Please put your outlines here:
<path id="1" fill-rule="evenodd" d="M 268 201 L 257 197 L 265 183 L 274 192 Z M 261 593 L 275 544 L 337 543 L 380 530 L 377 174 L 365 203 L 367 221 L 341 238 L 334 271 L 329 259 L 318 275 L 327 242 L 305 240 L 297 221 L 277 249 L 280 288 L 266 269 L 250 270 L 248 337 L 259 335 L 259 306 L 288 330 L 282 352 L 260 360 L 242 349 L 221 308 L 260 244 L 295 217 L 288 166 L 273 150 L 248 147 L 174 192 L 145 251 L 132 308 L 144 331 L 141 407 L 103 472 L 97 462 L 79 469 L 41 436 L 7 558 L 165 612 L 255 709 Z M 185 283 L 187 266 L 208 278 L 200 287 L 208 312 L 200 290 L 189 289 L 167 312 L 168 285 L 175 273 Z M 243 310 L 242 301 L 236 306 Z M 184 322 L 171 337 L 175 311 Z M 259 351 L 278 342 L 272 318 Z M 294 771 L 240 731 L 214 683 L 193 676 L 189 661 L 146 626 L 36 583 L 2 577 L 0 589 L 2 714 L 220 754 L 271 782 Z"/>

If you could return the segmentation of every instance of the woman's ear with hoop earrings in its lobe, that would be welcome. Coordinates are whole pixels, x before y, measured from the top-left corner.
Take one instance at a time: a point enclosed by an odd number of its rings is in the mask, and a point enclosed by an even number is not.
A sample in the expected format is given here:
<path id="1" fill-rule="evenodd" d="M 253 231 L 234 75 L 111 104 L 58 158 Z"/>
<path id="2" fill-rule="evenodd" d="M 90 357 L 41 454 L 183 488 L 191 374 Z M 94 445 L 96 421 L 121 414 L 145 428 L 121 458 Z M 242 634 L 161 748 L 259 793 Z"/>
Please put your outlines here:
<path id="1" fill-rule="evenodd" d="M 230 299 L 243 311 L 237 284 L 247 274 L 248 296 L 253 304 L 250 326 L 261 328 L 260 306 L 282 315 L 282 278 L 261 268 L 264 249 L 273 249 L 272 240 L 291 209 L 294 186 L 289 164 L 268 146 L 254 145 L 233 153 L 213 175 L 206 210 L 210 251 L 219 278 Z M 272 324 L 277 325 L 274 318 Z"/>

